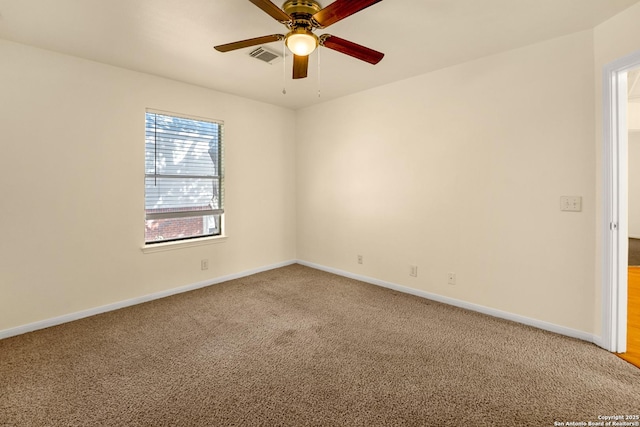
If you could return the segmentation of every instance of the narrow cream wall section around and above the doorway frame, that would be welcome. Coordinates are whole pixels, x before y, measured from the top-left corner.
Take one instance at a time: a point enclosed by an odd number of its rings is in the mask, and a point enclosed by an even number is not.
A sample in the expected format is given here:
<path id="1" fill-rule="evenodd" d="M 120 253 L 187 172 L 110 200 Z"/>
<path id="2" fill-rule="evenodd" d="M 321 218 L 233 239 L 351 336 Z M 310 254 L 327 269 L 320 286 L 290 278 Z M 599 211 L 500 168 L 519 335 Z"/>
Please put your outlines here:
<path id="1" fill-rule="evenodd" d="M 595 124 L 596 124 L 596 250 L 594 265 L 594 334 L 602 335 L 602 69 L 607 64 L 640 50 L 640 3 L 598 25 L 594 33 Z"/>

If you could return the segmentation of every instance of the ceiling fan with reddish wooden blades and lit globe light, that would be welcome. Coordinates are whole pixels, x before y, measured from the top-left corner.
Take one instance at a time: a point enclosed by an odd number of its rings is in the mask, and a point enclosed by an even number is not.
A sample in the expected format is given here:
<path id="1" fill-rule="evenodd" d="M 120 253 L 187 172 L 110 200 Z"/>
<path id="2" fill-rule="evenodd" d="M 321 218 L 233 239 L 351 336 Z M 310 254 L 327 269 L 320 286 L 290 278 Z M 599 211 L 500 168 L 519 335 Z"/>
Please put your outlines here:
<path id="1" fill-rule="evenodd" d="M 336 0 L 325 8 L 322 8 L 320 3 L 315 0 L 286 0 L 282 9 L 269 0 L 249 1 L 271 15 L 276 21 L 284 24 L 289 32 L 286 35 L 272 34 L 223 44 L 215 46 L 214 49 L 219 52 L 230 52 L 249 46 L 284 40 L 293 53 L 294 79 L 307 77 L 309 54 L 318 46 L 324 46 L 370 64 L 377 64 L 384 57 L 384 53 L 331 34 L 323 34 L 320 37 L 313 34 L 315 29 L 326 28 L 382 0 Z"/>

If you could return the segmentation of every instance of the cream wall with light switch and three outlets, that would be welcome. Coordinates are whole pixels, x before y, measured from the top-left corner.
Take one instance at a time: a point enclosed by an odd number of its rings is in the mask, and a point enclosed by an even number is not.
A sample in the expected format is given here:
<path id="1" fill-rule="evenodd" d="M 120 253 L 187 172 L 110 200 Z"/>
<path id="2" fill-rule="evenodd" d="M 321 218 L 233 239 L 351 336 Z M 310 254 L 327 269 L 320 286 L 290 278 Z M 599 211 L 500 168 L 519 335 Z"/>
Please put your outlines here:
<path id="1" fill-rule="evenodd" d="M 593 79 L 586 31 L 298 111 L 298 258 L 591 333 Z"/>

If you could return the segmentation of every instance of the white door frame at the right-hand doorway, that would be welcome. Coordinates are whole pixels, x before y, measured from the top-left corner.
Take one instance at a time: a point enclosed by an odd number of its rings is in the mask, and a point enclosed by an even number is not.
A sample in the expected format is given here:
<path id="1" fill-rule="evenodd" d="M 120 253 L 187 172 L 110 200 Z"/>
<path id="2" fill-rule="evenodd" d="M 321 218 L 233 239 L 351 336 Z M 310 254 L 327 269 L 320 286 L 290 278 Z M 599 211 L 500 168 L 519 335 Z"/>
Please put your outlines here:
<path id="1" fill-rule="evenodd" d="M 628 127 L 627 71 L 640 67 L 640 51 L 607 64 L 602 73 L 602 342 L 627 349 Z"/>

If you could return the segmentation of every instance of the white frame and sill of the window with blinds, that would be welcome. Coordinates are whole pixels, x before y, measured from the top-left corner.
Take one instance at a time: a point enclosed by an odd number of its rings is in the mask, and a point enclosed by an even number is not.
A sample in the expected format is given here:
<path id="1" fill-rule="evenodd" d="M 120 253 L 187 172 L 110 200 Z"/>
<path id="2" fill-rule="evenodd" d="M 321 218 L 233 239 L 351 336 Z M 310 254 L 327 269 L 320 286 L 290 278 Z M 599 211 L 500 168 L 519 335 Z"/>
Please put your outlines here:
<path id="1" fill-rule="evenodd" d="M 207 122 L 207 123 L 213 123 L 215 125 L 218 126 L 218 161 L 217 161 L 217 165 L 218 165 L 218 171 L 216 173 L 216 175 L 214 176 L 206 176 L 204 178 L 212 178 L 212 182 L 217 182 L 218 184 L 218 200 L 219 200 L 219 208 L 211 208 L 208 210 L 203 210 L 203 212 L 205 212 L 205 215 L 198 215 L 197 212 L 198 210 L 194 209 L 194 210 L 186 210 L 185 211 L 185 215 L 176 215 L 179 212 L 169 212 L 169 213 L 164 213 L 164 212 L 155 212 L 155 213 L 147 213 L 147 179 L 148 178 L 160 178 L 163 177 L 162 174 L 157 174 L 157 173 L 152 173 L 152 174 L 148 174 L 147 173 L 147 165 L 146 165 L 146 140 L 147 140 L 147 128 L 146 128 L 146 123 L 147 123 L 147 115 L 148 114 L 157 114 L 157 115 L 162 115 L 162 116 L 167 116 L 167 117 L 174 117 L 177 119 L 186 119 L 186 120 L 193 120 L 193 121 L 198 121 L 198 122 Z M 210 244 L 210 243 L 219 243 L 219 242 L 223 242 L 226 240 L 227 236 L 225 233 L 226 227 L 225 227 L 225 210 L 224 210 L 224 182 L 225 182 L 225 173 L 224 173 L 224 121 L 222 120 L 218 120 L 218 119 L 211 119 L 211 118 L 206 118 L 206 117 L 200 117 L 200 116 L 194 116 L 194 115 L 190 115 L 190 114 L 182 114 L 182 113 L 175 113 L 175 112 L 171 112 L 171 111 L 165 111 L 165 110 L 158 110 L 158 109 L 152 109 L 152 108 L 146 108 L 145 109 L 145 167 L 144 167 L 144 171 L 143 171 L 143 176 L 144 176 L 144 196 L 143 196 L 143 203 L 144 203 L 144 222 L 145 222 L 145 229 L 143 230 L 144 234 L 143 234 L 143 245 L 142 245 L 142 250 L 145 253 L 150 253 L 150 252 L 158 252 L 158 251 L 165 251 L 165 250 L 172 250 L 172 249 L 177 249 L 177 248 L 181 248 L 181 247 L 192 247 L 192 246 L 200 246 L 200 245 L 206 245 L 206 244 Z M 167 174 L 167 176 L 173 176 L 171 174 Z M 189 175 L 185 175 L 186 178 L 189 177 Z M 193 177 L 194 179 L 198 179 L 198 176 Z M 203 177 L 199 177 L 199 178 L 203 178 Z M 202 216 L 203 218 L 206 218 L 209 215 L 216 215 L 217 216 L 217 229 L 219 230 L 218 234 L 204 234 L 204 235 L 195 235 L 195 236 L 187 236 L 187 237 L 183 237 L 183 238 L 176 238 L 176 239 L 171 239 L 171 240 L 160 240 L 160 241 L 147 241 L 147 234 L 146 234 L 146 223 L 148 220 L 161 220 L 161 219 L 167 219 L 167 218 L 189 218 L 189 217 L 198 217 L 198 216 Z M 151 218 L 150 218 L 151 217 Z"/>

